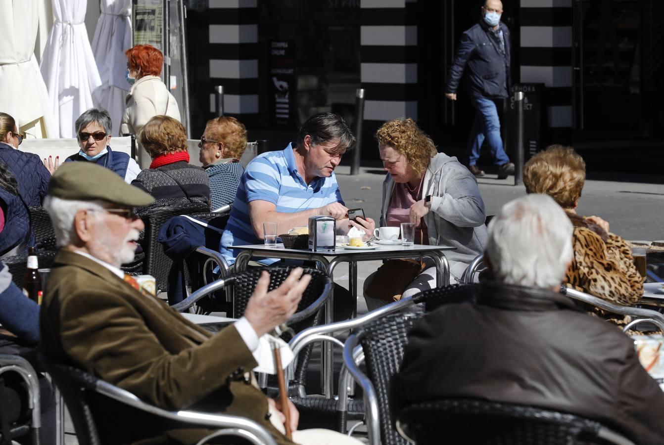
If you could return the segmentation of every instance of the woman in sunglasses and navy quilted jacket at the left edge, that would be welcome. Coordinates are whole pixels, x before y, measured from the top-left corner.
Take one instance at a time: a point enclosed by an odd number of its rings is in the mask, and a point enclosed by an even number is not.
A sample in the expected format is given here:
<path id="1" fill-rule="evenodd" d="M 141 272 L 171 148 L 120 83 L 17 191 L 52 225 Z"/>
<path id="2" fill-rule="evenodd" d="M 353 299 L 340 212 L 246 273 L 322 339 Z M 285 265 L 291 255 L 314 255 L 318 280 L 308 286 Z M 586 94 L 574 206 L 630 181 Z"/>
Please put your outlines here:
<path id="1" fill-rule="evenodd" d="M 7 113 L 0 113 L 0 162 L 7 164 L 19 184 L 19 195 L 26 206 L 41 206 L 46 196 L 50 173 L 39 156 L 18 150 L 23 142 L 16 121 Z"/>

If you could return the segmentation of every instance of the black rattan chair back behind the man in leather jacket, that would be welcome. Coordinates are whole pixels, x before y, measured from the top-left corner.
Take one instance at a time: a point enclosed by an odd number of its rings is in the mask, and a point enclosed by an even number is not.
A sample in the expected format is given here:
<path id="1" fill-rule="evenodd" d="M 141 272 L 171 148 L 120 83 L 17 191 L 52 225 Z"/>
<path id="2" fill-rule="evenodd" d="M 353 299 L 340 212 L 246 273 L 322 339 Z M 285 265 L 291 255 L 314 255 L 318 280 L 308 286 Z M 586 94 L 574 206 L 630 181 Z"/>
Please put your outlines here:
<path id="1" fill-rule="evenodd" d="M 396 425 L 416 444 L 633 445 L 599 422 L 574 414 L 474 399 L 410 405 L 398 414 Z"/>

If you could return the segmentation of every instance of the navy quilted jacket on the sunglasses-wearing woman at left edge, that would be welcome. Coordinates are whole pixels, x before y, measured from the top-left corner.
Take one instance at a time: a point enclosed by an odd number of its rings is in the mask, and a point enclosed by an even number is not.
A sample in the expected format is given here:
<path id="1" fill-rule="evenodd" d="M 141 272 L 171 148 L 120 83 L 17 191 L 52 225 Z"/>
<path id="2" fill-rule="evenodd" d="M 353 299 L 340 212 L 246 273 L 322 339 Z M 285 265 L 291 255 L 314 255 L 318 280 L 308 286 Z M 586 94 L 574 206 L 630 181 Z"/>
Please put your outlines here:
<path id="1" fill-rule="evenodd" d="M 16 182 L 19 183 L 19 194 L 25 205 L 41 206 L 48 192 L 50 173 L 39 156 L 0 142 L 0 160 L 9 166 Z"/>

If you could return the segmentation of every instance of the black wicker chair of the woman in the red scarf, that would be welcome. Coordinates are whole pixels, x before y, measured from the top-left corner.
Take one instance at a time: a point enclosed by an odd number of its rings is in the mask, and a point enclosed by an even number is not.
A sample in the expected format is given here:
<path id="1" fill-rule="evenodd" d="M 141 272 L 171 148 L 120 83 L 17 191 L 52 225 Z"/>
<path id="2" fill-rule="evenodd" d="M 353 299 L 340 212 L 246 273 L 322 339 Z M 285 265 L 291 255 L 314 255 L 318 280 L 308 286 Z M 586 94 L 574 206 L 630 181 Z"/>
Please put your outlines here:
<path id="1" fill-rule="evenodd" d="M 127 273 L 137 273 L 143 275 L 152 275 L 157 281 L 157 293 L 165 291 L 168 285 L 168 273 L 171 270 L 173 261 L 167 257 L 163 247 L 157 241 L 159 229 L 163 223 L 170 220 L 173 216 L 189 215 L 200 212 L 209 212 L 210 206 L 202 202 L 186 202 L 178 206 L 165 206 L 149 210 L 141 214 L 145 223 L 143 237 L 139 240 L 143 247 L 143 261 L 135 261 L 123 270 Z M 138 263 L 139 265 L 137 265 Z M 138 275 L 137 274 L 137 275 Z"/>

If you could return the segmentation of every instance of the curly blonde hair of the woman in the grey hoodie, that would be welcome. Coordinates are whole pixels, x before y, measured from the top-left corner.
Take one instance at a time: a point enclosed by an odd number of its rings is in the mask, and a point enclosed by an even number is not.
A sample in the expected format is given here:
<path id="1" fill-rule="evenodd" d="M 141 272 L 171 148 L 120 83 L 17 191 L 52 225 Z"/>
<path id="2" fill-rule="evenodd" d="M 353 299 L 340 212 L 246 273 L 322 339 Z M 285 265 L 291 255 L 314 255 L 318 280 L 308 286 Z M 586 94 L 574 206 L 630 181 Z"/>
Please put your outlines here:
<path id="1" fill-rule="evenodd" d="M 389 145 L 404 155 L 418 175 L 424 174 L 432 157 L 438 153 L 434 141 L 410 117 L 387 121 L 376 131 L 374 138 L 378 145 Z"/>

